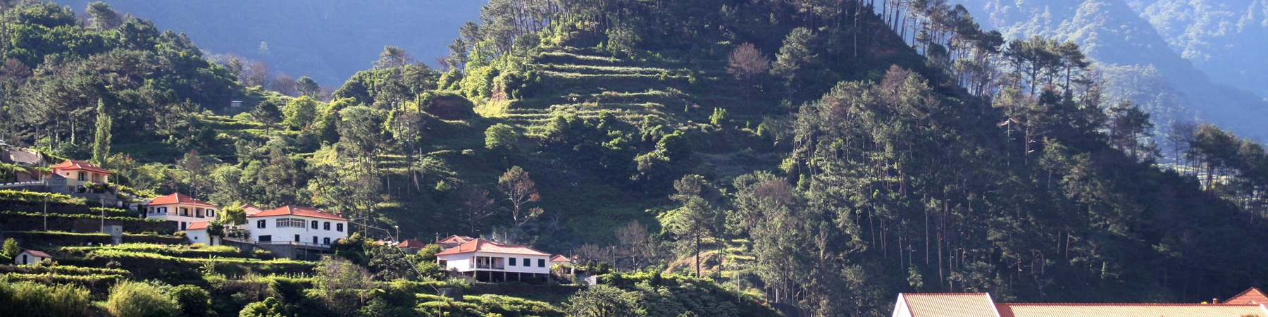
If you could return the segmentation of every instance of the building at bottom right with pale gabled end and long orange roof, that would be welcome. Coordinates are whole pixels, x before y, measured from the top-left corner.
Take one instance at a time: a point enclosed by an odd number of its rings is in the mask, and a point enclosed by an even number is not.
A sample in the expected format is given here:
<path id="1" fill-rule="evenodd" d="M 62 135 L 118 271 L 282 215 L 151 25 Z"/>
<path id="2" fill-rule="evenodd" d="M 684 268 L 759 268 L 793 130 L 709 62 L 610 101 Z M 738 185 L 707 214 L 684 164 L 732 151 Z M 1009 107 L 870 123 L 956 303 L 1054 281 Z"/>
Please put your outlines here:
<path id="1" fill-rule="evenodd" d="M 989 293 L 900 293 L 894 317 L 1268 317 L 1263 304 L 995 303 Z"/>

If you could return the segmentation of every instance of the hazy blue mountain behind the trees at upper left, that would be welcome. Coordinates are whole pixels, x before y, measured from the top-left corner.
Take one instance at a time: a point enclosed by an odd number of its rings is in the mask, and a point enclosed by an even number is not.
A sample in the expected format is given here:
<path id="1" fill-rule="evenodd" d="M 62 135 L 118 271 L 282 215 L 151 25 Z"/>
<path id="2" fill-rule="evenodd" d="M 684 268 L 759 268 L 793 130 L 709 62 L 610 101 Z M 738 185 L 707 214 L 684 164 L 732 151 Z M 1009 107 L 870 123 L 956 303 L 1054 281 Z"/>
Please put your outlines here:
<path id="1" fill-rule="evenodd" d="M 90 0 L 61 3 L 84 11 Z M 110 0 L 120 13 L 184 32 L 202 49 L 269 63 L 274 74 L 339 86 L 370 67 L 383 46 L 435 65 L 458 27 L 479 15 L 477 0 Z"/>

